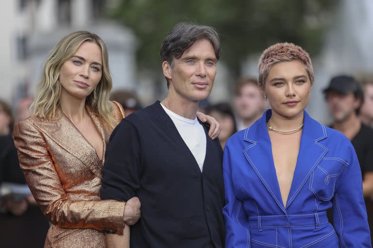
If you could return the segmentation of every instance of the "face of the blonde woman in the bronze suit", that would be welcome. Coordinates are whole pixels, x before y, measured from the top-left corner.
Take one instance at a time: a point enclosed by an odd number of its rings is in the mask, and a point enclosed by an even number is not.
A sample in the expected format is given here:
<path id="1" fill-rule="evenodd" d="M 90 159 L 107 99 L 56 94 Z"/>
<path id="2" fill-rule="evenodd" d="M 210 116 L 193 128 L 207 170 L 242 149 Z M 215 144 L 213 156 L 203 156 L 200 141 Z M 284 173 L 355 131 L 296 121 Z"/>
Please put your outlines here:
<path id="1" fill-rule="evenodd" d="M 62 94 L 85 99 L 96 88 L 102 76 L 102 53 L 93 42 L 83 42 L 60 71 Z"/>

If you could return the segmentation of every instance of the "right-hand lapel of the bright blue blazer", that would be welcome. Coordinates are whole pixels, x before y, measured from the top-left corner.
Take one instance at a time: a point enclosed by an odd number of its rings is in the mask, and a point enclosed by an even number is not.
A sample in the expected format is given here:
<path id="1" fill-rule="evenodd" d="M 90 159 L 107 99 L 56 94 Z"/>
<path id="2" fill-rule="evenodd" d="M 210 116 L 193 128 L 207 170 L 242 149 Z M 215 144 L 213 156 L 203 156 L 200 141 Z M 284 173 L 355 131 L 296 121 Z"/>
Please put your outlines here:
<path id="1" fill-rule="evenodd" d="M 306 111 L 304 111 L 304 116 L 301 146 L 299 148 L 297 165 L 295 167 L 286 208 L 294 201 L 311 172 L 328 151 L 326 147 L 319 143 L 320 140 L 327 137 L 325 127 L 312 119 Z"/>

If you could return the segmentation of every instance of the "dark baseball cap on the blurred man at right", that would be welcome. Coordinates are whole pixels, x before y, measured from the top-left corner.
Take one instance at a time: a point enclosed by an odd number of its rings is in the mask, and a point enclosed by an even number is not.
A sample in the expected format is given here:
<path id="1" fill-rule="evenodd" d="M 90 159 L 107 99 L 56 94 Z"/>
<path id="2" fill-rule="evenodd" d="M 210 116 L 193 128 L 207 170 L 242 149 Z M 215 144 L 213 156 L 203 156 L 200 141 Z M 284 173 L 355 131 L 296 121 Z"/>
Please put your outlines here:
<path id="1" fill-rule="evenodd" d="M 322 92 L 325 94 L 330 91 L 336 91 L 341 94 L 361 93 L 361 87 L 355 78 L 346 75 L 340 75 L 330 80 L 329 86 Z"/>

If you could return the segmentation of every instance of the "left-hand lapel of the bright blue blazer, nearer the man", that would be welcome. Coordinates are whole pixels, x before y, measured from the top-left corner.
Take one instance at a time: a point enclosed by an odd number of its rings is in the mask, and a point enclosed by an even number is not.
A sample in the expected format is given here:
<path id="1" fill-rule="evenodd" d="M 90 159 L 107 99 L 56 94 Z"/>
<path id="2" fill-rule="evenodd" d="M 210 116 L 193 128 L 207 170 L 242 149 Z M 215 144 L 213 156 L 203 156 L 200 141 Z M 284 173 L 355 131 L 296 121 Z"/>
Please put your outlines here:
<path id="1" fill-rule="evenodd" d="M 245 130 L 244 140 L 249 145 L 243 153 L 260 178 L 260 181 L 270 192 L 280 209 L 286 214 L 274 168 L 271 140 L 267 131 L 267 120 L 270 117 L 271 111 L 267 110 L 258 121 Z"/>

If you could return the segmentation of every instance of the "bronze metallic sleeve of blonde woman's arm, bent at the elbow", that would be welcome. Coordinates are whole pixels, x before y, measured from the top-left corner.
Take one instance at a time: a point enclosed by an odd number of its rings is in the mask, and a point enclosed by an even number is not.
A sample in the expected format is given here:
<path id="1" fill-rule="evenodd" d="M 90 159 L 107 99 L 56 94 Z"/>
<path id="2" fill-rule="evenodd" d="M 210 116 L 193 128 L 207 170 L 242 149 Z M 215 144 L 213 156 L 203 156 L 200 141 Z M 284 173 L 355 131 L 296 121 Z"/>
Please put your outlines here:
<path id="1" fill-rule="evenodd" d="M 45 138 L 30 119 L 15 126 L 14 140 L 26 181 L 42 212 L 52 224 L 122 234 L 125 202 L 69 199 Z"/>

